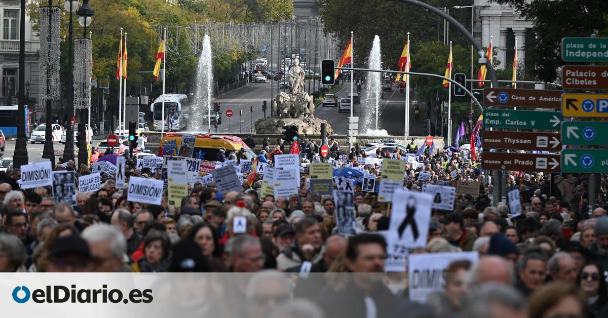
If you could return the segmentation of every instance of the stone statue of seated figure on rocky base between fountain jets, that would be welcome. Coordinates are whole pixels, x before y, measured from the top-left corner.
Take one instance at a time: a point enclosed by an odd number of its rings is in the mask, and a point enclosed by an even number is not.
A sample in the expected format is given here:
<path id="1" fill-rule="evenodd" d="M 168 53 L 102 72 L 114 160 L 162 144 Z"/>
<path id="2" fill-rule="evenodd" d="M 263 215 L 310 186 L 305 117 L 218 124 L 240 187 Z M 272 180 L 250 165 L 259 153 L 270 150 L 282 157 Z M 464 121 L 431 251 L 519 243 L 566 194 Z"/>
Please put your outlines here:
<path id="1" fill-rule="evenodd" d="M 294 58 L 286 74 L 289 94 L 279 92 L 275 98 L 273 111 L 277 117 L 302 118 L 314 117 L 314 104 L 310 95 L 304 91 L 306 72 L 300 67 L 300 60 Z"/>

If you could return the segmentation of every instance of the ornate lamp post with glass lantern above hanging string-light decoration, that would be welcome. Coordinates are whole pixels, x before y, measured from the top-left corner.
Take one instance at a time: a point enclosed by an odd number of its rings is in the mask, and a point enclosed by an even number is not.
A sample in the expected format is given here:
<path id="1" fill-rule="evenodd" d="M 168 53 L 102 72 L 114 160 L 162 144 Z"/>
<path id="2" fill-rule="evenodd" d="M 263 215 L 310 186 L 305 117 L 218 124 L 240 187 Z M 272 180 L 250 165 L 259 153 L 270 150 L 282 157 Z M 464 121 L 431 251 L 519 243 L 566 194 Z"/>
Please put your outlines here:
<path id="1" fill-rule="evenodd" d="M 78 165 L 88 164 L 89 151 L 86 141 L 86 116 L 88 108 L 91 107 L 91 52 L 92 41 L 86 38 L 86 27 L 91 25 L 92 16 L 95 14 L 89 0 L 83 0 L 78 9 L 78 24 L 84 27 L 82 39 L 76 40 L 74 50 L 74 106 L 80 109 L 80 123 L 78 124 Z"/>

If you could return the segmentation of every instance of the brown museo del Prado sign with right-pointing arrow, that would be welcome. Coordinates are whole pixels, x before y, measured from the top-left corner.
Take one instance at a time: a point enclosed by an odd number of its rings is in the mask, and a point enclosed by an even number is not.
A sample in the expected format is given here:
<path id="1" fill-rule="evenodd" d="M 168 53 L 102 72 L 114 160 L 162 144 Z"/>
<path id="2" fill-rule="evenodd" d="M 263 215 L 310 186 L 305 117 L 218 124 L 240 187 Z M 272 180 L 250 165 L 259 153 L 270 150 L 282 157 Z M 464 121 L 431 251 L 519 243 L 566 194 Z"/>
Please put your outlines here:
<path id="1" fill-rule="evenodd" d="M 485 170 L 561 172 L 559 154 L 482 153 Z"/>

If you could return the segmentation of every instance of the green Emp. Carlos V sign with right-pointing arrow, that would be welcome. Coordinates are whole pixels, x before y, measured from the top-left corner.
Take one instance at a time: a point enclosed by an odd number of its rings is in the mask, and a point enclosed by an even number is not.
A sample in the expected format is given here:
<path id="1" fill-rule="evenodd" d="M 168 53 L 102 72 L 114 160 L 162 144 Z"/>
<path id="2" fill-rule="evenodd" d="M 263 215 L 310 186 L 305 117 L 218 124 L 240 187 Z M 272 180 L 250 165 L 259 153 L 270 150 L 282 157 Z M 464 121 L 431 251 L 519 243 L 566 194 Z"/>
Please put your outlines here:
<path id="1" fill-rule="evenodd" d="M 514 111 L 511 109 L 484 109 L 483 126 L 536 130 L 559 130 L 564 116 L 549 111 Z"/>

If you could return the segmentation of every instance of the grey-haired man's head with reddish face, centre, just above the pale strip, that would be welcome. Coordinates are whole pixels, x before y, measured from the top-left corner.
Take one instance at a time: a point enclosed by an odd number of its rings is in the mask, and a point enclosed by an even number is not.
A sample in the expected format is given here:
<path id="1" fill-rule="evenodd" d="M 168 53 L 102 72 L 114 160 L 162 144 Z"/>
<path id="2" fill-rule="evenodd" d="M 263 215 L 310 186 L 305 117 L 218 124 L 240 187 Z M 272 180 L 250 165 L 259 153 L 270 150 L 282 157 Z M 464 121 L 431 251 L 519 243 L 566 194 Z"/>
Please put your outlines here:
<path id="1" fill-rule="evenodd" d="M 260 240 L 249 234 L 230 238 L 224 252 L 229 260 L 230 272 L 259 272 L 264 266 Z"/>

